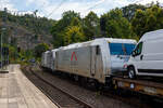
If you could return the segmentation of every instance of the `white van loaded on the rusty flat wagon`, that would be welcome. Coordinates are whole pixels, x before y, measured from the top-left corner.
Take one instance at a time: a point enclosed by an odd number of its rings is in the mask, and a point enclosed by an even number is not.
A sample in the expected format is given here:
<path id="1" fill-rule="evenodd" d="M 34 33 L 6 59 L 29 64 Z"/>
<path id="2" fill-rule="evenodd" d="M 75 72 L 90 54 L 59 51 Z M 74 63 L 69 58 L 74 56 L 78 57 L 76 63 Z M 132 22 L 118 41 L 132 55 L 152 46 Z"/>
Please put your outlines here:
<path id="1" fill-rule="evenodd" d="M 127 63 L 128 77 L 163 77 L 163 29 L 142 36 Z"/>

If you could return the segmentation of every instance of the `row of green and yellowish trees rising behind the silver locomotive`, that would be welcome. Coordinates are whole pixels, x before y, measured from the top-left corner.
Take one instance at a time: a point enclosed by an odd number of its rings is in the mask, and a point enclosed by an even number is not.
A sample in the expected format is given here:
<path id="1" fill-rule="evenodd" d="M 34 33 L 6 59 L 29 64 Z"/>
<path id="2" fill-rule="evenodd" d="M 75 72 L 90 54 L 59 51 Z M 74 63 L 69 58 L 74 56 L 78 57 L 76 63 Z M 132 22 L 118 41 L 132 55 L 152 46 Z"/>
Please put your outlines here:
<path id="1" fill-rule="evenodd" d="M 163 9 L 159 2 L 129 4 L 113 9 L 100 17 L 89 12 L 84 18 L 74 11 L 64 12 L 52 27 L 54 48 L 99 37 L 139 39 L 145 32 L 163 28 Z"/>

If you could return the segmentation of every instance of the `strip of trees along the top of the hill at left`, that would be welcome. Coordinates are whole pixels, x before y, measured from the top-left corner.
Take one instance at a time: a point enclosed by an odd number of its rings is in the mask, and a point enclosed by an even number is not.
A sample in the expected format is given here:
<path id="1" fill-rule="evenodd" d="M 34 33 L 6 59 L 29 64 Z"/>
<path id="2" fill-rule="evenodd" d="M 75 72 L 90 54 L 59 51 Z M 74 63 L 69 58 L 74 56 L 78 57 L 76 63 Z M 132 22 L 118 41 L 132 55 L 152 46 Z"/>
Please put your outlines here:
<path id="1" fill-rule="evenodd" d="M 55 22 L 46 17 L 36 16 L 36 12 L 34 14 L 14 15 L 9 13 L 8 9 L 0 11 L 0 18 L 3 22 L 15 23 L 15 26 L 21 25 L 35 33 L 41 35 L 50 35 L 52 24 Z"/>

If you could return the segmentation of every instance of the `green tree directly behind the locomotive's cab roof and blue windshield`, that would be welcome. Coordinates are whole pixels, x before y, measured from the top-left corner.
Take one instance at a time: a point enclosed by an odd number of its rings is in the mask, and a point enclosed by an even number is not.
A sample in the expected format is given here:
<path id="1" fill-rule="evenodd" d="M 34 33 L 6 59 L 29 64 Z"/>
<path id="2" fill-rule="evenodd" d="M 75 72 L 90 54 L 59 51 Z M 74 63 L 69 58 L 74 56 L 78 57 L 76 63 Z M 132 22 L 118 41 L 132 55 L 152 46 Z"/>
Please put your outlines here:
<path id="1" fill-rule="evenodd" d="M 130 23 L 123 17 L 122 10 L 111 10 L 102 15 L 105 19 L 105 33 L 110 38 L 134 38 Z"/>

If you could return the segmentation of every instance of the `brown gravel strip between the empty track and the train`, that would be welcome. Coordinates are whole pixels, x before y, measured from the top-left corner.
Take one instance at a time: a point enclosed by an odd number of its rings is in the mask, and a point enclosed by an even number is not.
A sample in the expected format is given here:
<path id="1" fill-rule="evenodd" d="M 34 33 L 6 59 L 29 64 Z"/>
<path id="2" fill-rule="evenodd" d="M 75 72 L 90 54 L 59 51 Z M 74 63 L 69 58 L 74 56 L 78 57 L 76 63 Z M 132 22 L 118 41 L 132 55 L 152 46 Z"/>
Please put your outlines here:
<path id="1" fill-rule="evenodd" d="M 128 105 L 122 100 L 100 95 L 98 92 L 86 90 L 77 84 L 71 83 L 63 78 L 59 78 L 48 71 L 42 71 L 39 67 L 33 68 L 35 73 L 37 73 L 42 79 L 49 81 L 51 84 L 68 92 L 72 95 L 89 103 L 95 108 L 136 108 L 136 106 Z M 128 98 L 129 99 L 129 98 Z"/>

